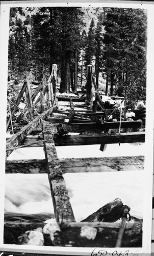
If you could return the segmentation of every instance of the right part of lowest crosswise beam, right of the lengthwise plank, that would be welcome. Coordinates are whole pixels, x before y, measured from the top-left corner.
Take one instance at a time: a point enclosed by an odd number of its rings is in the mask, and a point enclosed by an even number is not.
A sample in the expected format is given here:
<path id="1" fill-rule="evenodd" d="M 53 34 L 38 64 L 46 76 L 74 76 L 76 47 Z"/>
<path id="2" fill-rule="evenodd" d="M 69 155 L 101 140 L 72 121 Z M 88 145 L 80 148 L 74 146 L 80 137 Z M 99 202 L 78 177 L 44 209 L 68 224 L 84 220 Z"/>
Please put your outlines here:
<path id="1" fill-rule="evenodd" d="M 119 172 L 144 169 L 144 156 L 59 159 L 64 173 Z"/>

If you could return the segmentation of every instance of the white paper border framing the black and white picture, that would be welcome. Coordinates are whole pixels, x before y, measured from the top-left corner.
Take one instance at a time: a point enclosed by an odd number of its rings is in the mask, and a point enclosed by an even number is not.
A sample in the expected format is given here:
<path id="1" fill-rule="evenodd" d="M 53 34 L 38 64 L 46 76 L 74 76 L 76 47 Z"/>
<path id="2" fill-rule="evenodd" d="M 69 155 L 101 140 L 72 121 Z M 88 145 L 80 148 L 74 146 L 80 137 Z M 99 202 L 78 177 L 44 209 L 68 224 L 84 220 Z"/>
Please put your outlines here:
<path id="1" fill-rule="evenodd" d="M 6 131 L 6 108 L 7 108 L 7 75 L 8 75 L 8 31 L 9 31 L 9 9 L 10 7 L 116 7 L 116 8 L 139 8 L 147 9 L 148 28 L 147 28 L 147 87 L 146 87 L 146 135 L 145 143 L 147 146 L 145 154 L 145 184 L 144 184 L 144 209 L 143 209 L 143 246 L 141 248 L 105 248 L 110 255 L 117 250 L 119 253 L 129 250 L 129 255 L 149 255 L 151 252 L 151 219 L 152 219 L 152 173 L 153 173 L 153 67 L 154 67 L 154 3 L 135 2 L 135 1 L 8 1 L 1 2 L 0 16 L 0 109 L 1 109 L 1 222 L 0 230 L 4 228 L 4 191 L 5 191 L 5 131 Z M 149 212 L 150 211 L 150 212 Z M 3 232 L 0 233 L 0 250 L 26 252 L 26 253 L 45 253 L 45 254 L 63 254 L 63 255 L 91 255 L 94 248 L 89 247 L 50 247 L 50 246 L 25 246 L 25 245 L 7 245 L 3 243 Z M 98 248 L 104 249 L 104 248 Z M 100 254 L 100 253 L 99 253 Z M 97 254 L 99 256 L 99 254 Z M 108 255 L 107 255 L 108 256 Z"/>

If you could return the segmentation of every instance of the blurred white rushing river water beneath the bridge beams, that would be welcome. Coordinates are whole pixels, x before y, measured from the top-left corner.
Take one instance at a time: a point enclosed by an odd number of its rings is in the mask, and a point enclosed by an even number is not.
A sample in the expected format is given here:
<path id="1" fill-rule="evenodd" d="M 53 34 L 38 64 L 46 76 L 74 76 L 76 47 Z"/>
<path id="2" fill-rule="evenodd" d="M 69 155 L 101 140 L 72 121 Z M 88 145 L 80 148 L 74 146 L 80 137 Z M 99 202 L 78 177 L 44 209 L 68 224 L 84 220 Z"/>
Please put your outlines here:
<path id="1" fill-rule="evenodd" d="M 145 143 L 59 146 L 58 158 L 85 158 L 145 155 Z M 20 148 L 10 159 L 44 159 L 43 147 Z M 131 208 L 132 216 L 143 218 L 144 170 L 105 173 L 69 173 L 63 175 L 76 221 L 120 198 Z M 20 214 L 54 214 L 47 174 L 6 174 L 5 211 Z"/>

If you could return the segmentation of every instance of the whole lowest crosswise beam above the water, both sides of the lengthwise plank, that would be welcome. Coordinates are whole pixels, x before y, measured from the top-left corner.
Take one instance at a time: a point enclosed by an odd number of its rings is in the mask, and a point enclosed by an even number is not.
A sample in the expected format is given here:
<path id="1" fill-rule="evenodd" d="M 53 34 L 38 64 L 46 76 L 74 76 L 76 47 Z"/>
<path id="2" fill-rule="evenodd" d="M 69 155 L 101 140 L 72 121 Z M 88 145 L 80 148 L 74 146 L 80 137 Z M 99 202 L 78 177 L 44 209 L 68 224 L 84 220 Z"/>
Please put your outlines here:
<path id="1" fill-rule="evenodd" d="M 144 156 L 59 159 L 63 173 L 143 170 Z M 45 159 L 7 160 L 6 173 L 47 173 Z"/>

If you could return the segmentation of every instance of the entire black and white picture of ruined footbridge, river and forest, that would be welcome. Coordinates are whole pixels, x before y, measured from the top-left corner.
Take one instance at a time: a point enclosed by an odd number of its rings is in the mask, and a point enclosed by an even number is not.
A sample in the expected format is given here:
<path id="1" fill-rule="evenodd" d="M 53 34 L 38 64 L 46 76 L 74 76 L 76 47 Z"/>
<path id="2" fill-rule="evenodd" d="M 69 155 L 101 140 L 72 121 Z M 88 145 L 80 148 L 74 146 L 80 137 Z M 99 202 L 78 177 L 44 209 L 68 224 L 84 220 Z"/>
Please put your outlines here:
<path id="1" fill-rule="evenodd" d="M 4 246 L 140 252 L 147 44 L 146 8 L 9 8 Z"/>

